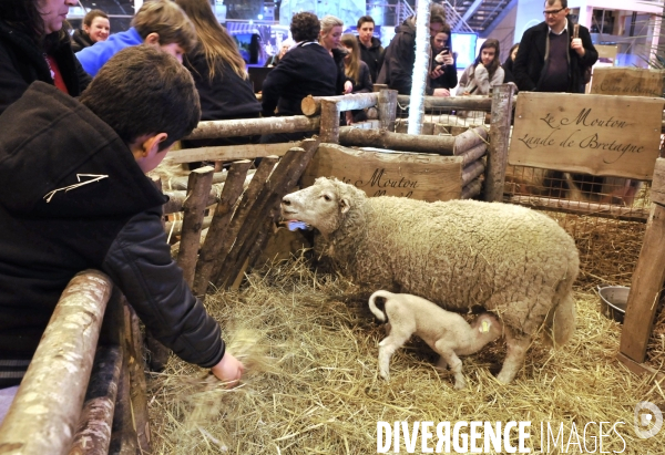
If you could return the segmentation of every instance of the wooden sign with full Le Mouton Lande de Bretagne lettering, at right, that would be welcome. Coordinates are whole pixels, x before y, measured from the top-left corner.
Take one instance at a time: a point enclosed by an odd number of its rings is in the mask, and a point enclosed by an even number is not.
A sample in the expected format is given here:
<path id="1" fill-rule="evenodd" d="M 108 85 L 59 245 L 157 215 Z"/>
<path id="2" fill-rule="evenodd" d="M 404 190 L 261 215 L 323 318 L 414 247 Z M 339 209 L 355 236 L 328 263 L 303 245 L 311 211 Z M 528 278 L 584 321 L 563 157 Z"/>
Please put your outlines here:
<path id="1" fill-rule="evenodd" d="M 663 99 L 521 92 L 509 163 L 651 179 Z"/>

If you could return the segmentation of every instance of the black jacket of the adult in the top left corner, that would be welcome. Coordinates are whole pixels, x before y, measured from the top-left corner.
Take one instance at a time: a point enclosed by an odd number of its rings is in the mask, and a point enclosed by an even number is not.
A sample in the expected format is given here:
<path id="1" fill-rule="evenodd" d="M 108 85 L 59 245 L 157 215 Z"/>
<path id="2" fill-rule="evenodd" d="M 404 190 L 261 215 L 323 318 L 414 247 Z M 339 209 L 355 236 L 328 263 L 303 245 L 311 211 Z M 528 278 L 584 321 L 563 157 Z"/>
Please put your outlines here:
<path id="1" fill-rule="evenodd" d="M 43 53 L 30 37 L 0 20 L 0 114 L 21 97 L 32 82 L 53 84 Z M 50 54 L 58 63 L 69 94 L 79 96 L 91 79 L 74 56 L 66 33 L 62 33 Z"/>

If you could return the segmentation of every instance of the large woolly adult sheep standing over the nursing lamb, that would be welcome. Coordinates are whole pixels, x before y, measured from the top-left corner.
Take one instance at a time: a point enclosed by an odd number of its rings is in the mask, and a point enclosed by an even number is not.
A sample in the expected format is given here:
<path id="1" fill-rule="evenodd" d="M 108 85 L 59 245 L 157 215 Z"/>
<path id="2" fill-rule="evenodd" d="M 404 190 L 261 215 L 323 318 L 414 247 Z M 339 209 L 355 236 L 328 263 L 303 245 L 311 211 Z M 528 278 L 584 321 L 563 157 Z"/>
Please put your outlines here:
<path id="1" fill-rule="evenodd" d="M 367 296 L 387 289 L 497 314 L 508 345 L 500 382 L 514 379 L 541 328 L 555 345 L 574 332 L 579 254 L 545 215 L 501 203 L 369 198 L 325 177 L 285 196 L 282 215 L 318 229 L 334 263 Z"/>

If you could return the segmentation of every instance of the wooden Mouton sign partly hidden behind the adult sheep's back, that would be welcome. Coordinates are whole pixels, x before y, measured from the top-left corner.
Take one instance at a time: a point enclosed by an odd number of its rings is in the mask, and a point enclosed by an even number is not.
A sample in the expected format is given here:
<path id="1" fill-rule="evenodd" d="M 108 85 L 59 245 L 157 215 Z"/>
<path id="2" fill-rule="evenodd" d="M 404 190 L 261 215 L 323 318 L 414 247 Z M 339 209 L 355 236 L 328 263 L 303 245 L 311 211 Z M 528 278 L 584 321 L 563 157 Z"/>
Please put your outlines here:
<path id="1" fill-rule="evenodd" d="M 320 144 L 303 174 L 303 186 L 310 186 L 317 177 L 337 177 L 368 196 L 401 196 L 428 201 L 459 199 L 462 158 Z"/>

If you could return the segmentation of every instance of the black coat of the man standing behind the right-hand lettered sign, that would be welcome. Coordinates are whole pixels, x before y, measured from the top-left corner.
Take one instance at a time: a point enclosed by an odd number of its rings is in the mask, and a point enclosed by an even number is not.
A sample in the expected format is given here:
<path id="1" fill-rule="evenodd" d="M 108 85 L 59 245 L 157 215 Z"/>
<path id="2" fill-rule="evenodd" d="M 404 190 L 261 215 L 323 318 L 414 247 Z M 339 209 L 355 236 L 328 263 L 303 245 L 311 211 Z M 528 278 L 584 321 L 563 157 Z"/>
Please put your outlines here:
<path id="1" fill-rule="evenodd" d="M 524 32 L 520 41 L 518 56 L 513 63 L 513 75 L 521 91 L 540 90 L 546 70 L 546 43 L 550 29 L 541 22 Z M 569 37 L 573 35 L 573 23 L 567 21 Z M 580 25 L 580 39 L 584 46 L 584 56 L 570 49 L 569 45 L 569 89 L 567 93 L 584 93 L 584 70 L 598 60 L 598 53 L 591 42 L 586 27 Z"/>

